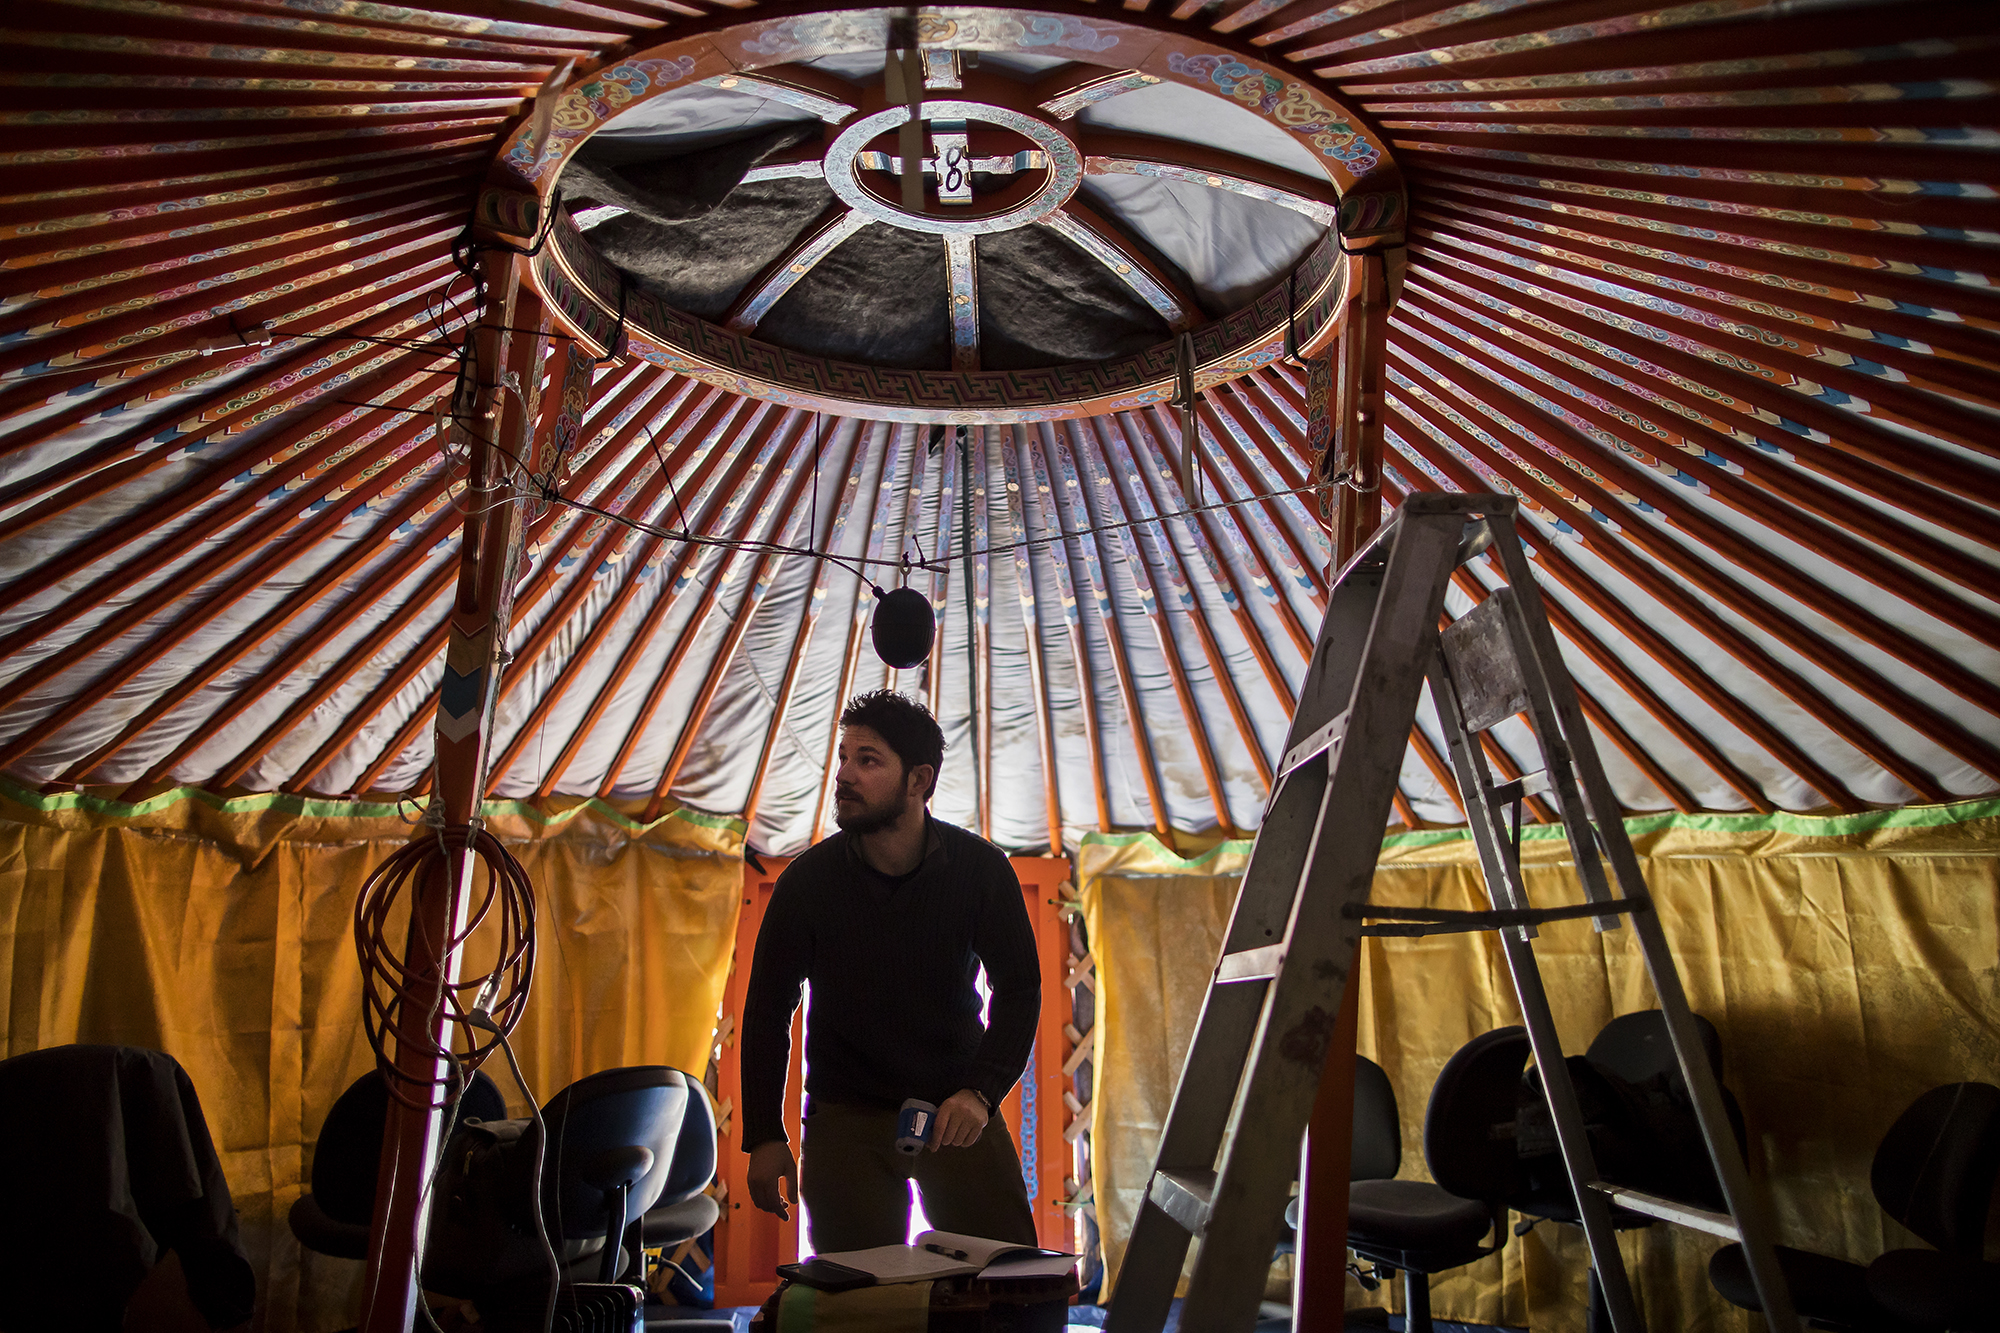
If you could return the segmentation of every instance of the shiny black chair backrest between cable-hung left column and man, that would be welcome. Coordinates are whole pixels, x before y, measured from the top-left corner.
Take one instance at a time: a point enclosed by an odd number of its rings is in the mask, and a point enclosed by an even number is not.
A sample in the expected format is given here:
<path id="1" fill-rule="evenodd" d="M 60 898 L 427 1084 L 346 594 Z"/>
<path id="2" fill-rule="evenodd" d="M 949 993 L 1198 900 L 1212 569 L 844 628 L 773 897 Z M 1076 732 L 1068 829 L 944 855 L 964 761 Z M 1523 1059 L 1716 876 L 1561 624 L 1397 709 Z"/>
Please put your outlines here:
<path id="1" fill-rule="evenodd" d="M 666 1065 L 630 1065 L 582 1077 L 542 1107 L 542 1205 L 554 1231 L 570 1241 L 604 1235 L 604 1191 L 584 1179 L 584 1169 L 606 1149 L 652 1149 L 652 1169 L 632 1183 L 626 1217 L 654 1207 L 672 1169 L 690 1083 Z"/>

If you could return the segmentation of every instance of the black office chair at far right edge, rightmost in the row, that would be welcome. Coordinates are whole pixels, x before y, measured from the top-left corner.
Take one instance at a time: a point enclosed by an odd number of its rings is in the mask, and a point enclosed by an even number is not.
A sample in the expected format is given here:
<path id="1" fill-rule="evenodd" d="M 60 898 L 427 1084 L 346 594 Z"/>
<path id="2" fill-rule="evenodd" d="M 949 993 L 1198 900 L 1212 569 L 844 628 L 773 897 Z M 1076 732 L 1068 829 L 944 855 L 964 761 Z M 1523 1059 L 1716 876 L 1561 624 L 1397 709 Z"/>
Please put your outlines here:
<path id="1" fill-rule="evenodd" d="M 1980 1261 L 1996 1177 L 2000 1087 L 1946 1083 L 1912 1101 L 1882 1135 L 1868 1185 L 1936 1249 L 1892 1249 L 1862 1267 L 1780 1245 L 1800 1319 L 1842 1333 L 2000 1329 L 2000 1265 Z M 1714 1253 L 1708 1281 L 1732 1305 L 1762 1309 L 1742 1245 Z"/>

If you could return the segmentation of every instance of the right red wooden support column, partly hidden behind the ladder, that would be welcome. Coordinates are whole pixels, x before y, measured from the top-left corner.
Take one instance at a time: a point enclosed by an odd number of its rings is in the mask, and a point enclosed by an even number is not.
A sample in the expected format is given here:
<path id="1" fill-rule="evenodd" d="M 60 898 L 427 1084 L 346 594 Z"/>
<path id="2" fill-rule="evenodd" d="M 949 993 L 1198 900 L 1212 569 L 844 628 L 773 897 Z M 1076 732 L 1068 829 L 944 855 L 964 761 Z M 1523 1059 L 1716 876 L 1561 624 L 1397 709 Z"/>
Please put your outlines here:
<path id="1" fill-rule="evenodd" d="M 1382 250 L 1348 256 L 1348 308 L 1330 364 L 1312 366 L 1308 384 L 1326 394 L 1310 404 L 1332 432 L 1320 474 L 1338 480 L 1332 510 L 1332 568 L 1340 570 L 1382 526 L 1382 362 L 1388 334 L 1388 270 Z M 1324 512 L 1324 510 L 1322 510 Z M 1348 1169 L 1354 1155 L 1354 1031 L 1360 955 L 1348 973 L 1340 1017 L 1326 1049 L 1320 1097 L 1298 1167 L 1298 1255 L 1292 1327 L 1340 1333 L 1348 1283 Z"/>

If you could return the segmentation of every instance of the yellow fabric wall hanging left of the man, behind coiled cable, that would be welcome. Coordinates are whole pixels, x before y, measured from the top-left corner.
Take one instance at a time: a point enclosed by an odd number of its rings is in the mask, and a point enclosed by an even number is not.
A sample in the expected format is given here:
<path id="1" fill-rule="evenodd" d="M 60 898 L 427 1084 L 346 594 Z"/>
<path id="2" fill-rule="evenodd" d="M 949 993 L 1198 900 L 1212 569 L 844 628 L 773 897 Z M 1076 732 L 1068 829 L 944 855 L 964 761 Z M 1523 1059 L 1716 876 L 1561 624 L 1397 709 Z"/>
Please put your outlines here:
<path id="1" fill-rule="evenodd" d="M 740 823 L 494 801 L 486 827 L 538 897 L 540 957 L 514 1033 L 536 1095 L 618 1065 L 700 1075 L 742 901 Z M 374 1061 L 354 899 L 410 837 L 390 805 L 0 785 L 6 1055 L 116 1043 L 188 1069 L 242 1211 L 260 1329 L 354 1323 L 360 1265 L 300 1251 L 284 1217 L 326 1111 Z M 504 1059 L 486 1073 L 524 1113 Z"/>

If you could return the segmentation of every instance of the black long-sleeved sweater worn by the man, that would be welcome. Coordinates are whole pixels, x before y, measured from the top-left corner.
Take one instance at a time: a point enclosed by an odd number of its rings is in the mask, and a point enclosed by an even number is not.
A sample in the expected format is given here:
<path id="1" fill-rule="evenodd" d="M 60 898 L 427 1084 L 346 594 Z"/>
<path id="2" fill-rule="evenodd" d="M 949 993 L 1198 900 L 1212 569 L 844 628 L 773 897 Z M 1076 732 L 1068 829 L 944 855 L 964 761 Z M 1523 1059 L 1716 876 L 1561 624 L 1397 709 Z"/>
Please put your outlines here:
<path id="1" fill-rule="evenodd" d="M 1042 973 L 1020 881 L 1006 855 L 926 821 L 926 851 L 898 883 L 846 833 L 814 845 L 772 891 L 744 1001 L 744 1147 L 784 1141 L 784 1079 L 800 983 L 806 1095 L 896 1109 L 976 1089 L 994 1107 L 1028 1065 Z M 988 1027 L 974 987 L 992 985 Z"/>

